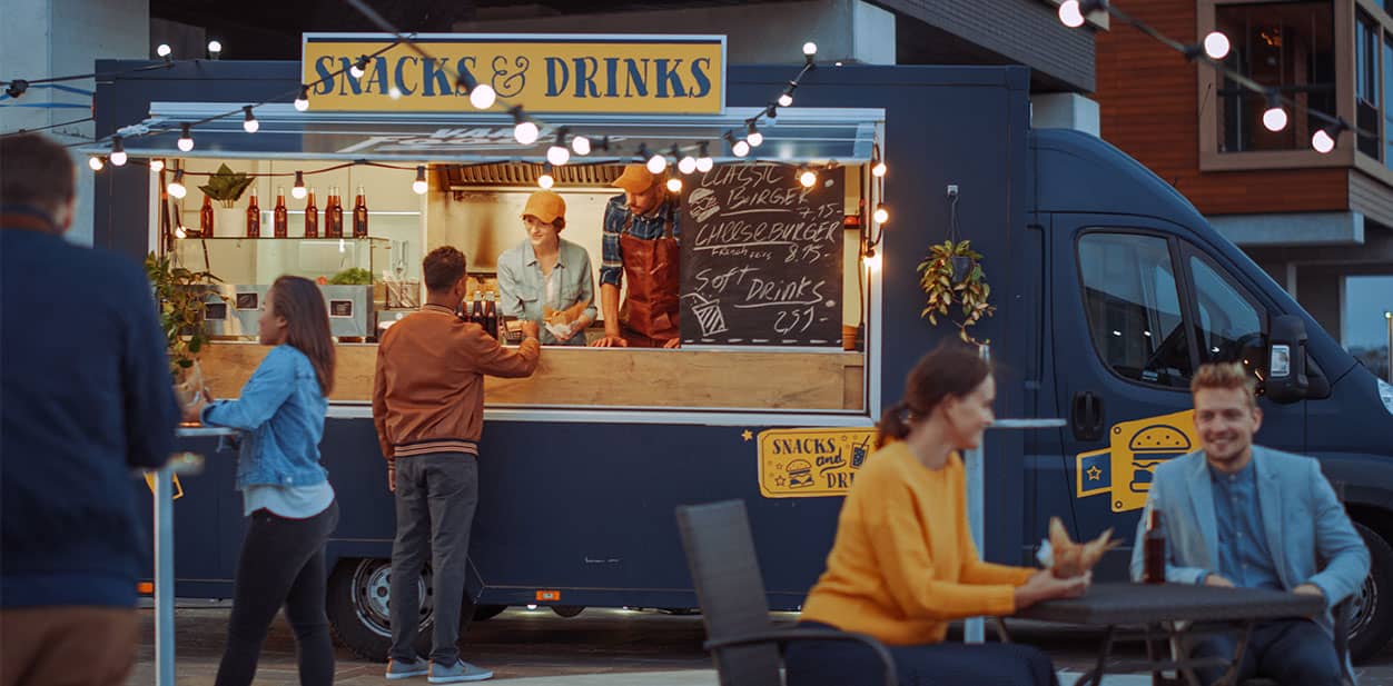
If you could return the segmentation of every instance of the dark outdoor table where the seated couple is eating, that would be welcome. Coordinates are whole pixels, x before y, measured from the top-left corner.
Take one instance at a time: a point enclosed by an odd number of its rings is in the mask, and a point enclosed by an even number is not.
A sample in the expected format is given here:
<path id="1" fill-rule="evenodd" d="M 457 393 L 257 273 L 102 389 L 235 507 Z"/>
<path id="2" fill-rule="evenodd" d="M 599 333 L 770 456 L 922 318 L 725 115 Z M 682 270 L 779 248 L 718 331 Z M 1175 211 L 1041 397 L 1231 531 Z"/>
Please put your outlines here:
<path id="1" fill-rule="evenodd" d="M 1139 665 L 1119 662 L 1112 665 L 1114 671 L 1148 668 L 1152 672 L 1153 683 L 1159 683 L 1160 671 L 1177 669 L 1187 683 L 1198 685 L 1192 668 L 1227 667 L 1229 671 L 1217 683 L 1231 686 L 1256 622 L 1311 618 L 1323 609 L 1325 600 L 1321 597 L 1263 589 L 1220 589 L 1176 583 L 1095 583 L 1082 597 L 1039 603 L 1017 612 L 1013 618 L 1106 628 L 1103 646 L 1098 654 L 1098 665 L 1084 672 L 1074 682 L 1075 686 L 1102 683 L 1117 629 L 1124 626 L 1144 628 L 1146 661 Z M 1197 623 L 1226 623 L 1230 628 L 1241 629 L 1243 633 L 1238 637 L 1233 660 L 1188 660 L 1185 655 L 1169 660 L 1152 653 L 1152 630 L 1159 630 L 1159 637 L 1172 640 L 1190 635 L 1213 633 L 1212 630 L 1198 630 Z"/>

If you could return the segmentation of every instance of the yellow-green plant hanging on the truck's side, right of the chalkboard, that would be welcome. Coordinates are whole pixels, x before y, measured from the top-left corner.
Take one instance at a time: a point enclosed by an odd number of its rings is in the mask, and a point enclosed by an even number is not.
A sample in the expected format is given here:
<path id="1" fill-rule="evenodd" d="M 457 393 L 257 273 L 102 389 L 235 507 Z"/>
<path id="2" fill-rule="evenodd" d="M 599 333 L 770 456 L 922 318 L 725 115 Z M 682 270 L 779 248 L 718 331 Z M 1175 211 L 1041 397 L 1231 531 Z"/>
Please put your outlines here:
<path id="1" fill-rule="evenodd" d="M 968 328 L 983 317 L 990 317 L 996 306 L 988 299 L 992 287 L 982 271 L 982 255 L 972 249 L 972 241 L 951 238 L 929 246 L 929 255 L 919 262 L 919 287 L 928 295 L 928 302 L 919 316 L 937 326 L 939 317 L 958 327 L 963 341 L 986 345 L 978 341 Z M 961 310 L 961 317 L 957 312 Z"/>

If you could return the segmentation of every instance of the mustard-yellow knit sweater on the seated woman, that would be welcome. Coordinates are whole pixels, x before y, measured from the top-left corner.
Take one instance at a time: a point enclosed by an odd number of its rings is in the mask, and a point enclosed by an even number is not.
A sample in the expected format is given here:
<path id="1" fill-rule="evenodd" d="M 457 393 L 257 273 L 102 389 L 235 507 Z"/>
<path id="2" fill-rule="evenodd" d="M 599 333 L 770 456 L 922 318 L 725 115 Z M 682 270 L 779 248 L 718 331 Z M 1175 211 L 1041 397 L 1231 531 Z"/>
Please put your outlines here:
<path id="1" fill-rule="evenodd" d="M 1034 572 L 978 557 L 957 454 L 931 470 L 894 442 L 857 474 L 802 619 L 892 646 L 939 643 L 953 619 L 1014 612 Z"/>

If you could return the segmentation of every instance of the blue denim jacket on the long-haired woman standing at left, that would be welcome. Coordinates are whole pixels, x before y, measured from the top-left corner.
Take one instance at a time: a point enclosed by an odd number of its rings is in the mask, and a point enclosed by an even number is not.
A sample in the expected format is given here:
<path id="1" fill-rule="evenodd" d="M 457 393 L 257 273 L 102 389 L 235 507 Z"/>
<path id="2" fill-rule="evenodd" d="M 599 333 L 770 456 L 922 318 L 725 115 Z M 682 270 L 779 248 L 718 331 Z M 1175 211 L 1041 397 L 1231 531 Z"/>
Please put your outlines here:
<path id="1" fill-rule="evenodd" d="M 210 426 L 242 430 L 237 490 L 248 486 L 313 486 L 327 480 L 319 466 L 329 401 L 304 352 L 277 345 L 266 353 L 235 401 L 203 408 Z"/>

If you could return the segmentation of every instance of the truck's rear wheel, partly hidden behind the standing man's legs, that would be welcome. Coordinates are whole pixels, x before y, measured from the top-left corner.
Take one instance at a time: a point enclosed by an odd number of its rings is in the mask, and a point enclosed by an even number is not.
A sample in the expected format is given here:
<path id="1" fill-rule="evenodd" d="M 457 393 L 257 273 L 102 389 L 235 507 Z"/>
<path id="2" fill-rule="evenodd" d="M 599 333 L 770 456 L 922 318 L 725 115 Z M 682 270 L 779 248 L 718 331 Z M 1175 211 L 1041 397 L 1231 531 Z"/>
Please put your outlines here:
<path id="1" fill-rule="evenodd" d="M 430 654 L 435 600 L 430 597 L 430 568 L 421 573 L 421 618 L 417 653 Z M 334 639 L 362 660 L 387 661 L 391 650 L 391 561 L 344 559 L 329 575 L 326 609 Z"/>

